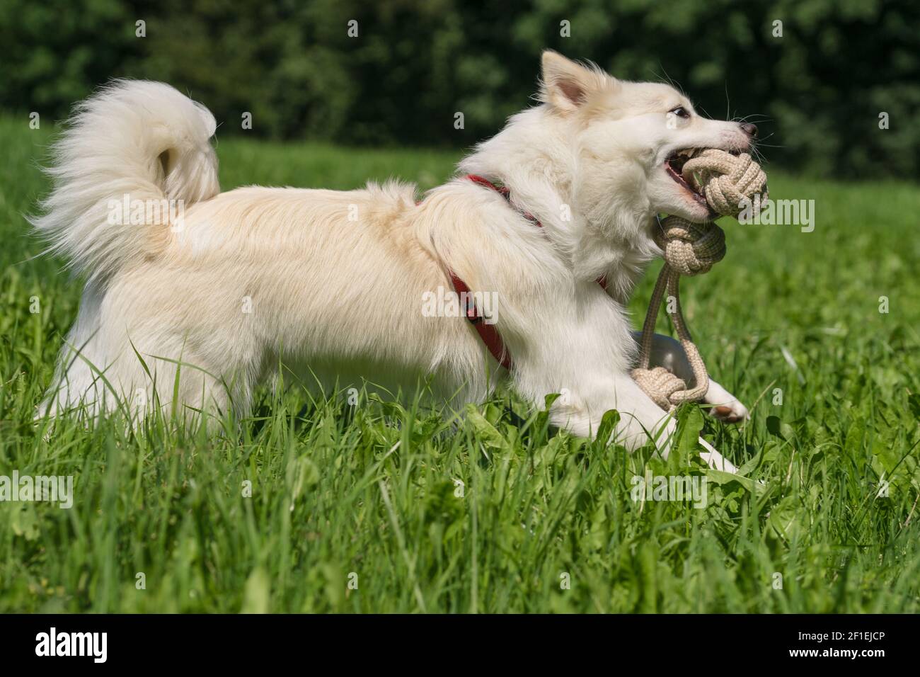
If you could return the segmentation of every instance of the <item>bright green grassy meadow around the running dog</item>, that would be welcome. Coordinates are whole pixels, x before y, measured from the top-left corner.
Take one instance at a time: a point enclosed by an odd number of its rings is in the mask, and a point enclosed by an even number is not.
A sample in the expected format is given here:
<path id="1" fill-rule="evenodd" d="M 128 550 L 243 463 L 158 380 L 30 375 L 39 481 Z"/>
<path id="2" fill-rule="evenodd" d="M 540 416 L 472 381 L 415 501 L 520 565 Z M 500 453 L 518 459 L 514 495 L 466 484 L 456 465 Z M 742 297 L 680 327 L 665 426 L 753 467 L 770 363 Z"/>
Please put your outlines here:
<path id="1" fill-rule="evenodd" d="M 33 408 L 80 294 L 62 262 L 30 260 L 22 213 L 47 187 L 48 139 L 0 121 L 0 474 L 74 475 L 75 504 L 0 503 L 0 612 L 920 611 L 915 185 L 772 171 L 773 197 L 815 200 L 814 232 L 723 224 L 729 254 L 684 282 L 684 305 L 753 420 L 689 407 L 666 463 L 547 429 L 506 393 L 451 423 L 411 398 L 352 407 L 293 384 L 222 436 L 109 420 L 46 438 Z M 239 140 L 218 153 L 224 188 L 430 187 L 456 159 Z M 707 474 L 699 426 L 763 485 Z M 707 508 L 634 502 L 643 465 L 707 474 Z"/>

